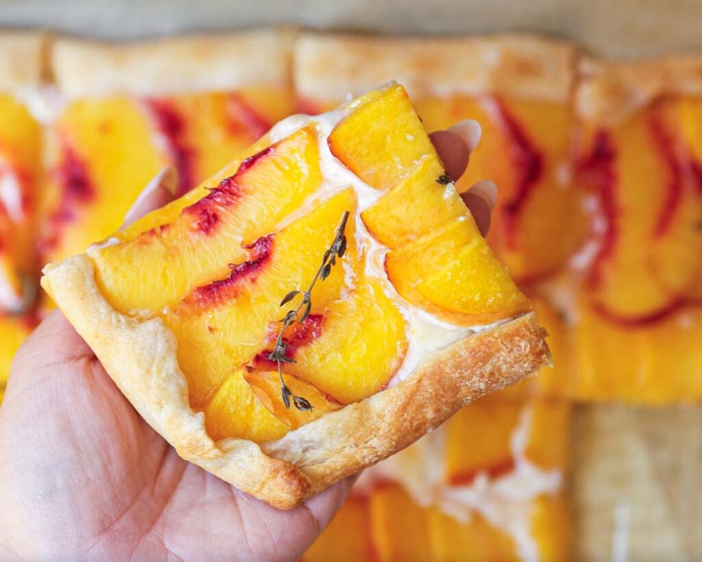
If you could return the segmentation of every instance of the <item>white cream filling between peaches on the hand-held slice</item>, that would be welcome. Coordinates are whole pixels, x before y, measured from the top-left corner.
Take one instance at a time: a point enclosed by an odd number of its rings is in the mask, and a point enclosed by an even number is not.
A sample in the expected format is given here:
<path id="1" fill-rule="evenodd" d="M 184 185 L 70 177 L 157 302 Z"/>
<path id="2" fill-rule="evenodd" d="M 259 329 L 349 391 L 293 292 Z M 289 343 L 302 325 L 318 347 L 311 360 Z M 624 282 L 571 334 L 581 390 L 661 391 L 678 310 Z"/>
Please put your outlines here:
<path id="1" fill-rule="evenodd" d="M 509 319 L 500 320 L 490 325 L 457 326 L 449 322 L 443 322 L 433 315 L 420 310 L 420 308 L 412 306 L 397 293 L 397 290 L 388 280 L 388 275 L 385 273 L 385 255 L 389 249 L 384 244 L 380 244 L 369 233 L 361 218 L 362 212 L 378 201 L 385 191 L 376 190 L 362 181 L 343 162 L 340 162 L 329 149 L 329 135 L 338 123 L 356 107 L 354 103 L 350 103 L 345 107 L 322 115 L 292 115 L 283 119 L 270 130 L 270 142 L 277 143 L 305 126 L 311 126 L 315 129 L 319 146 L 319 167 L 324 178 L 324 183 L 322 183 L 319 190 L 314 192 L 296 212 L 286 217 L 284 222 L 277 226 L 276 230 L 296 221 L 307 214 L 316 204 L 329 199 L 336 193 L 349 187 L 354 190 L 357 197 L 355 237 L 357 246 L 365 255 L 366 276 L 380 280 L 385 294 L 392 299 L 406 320 L 408 346 L 402 364 L 388 384 L 388 386 L 393 386 L 407 379 L 419 365 L 429 360 L 432 355 L 455 344 L 456 341 L 465 338 L 469 334 L 499 325 Z M 451 190 L 455 191 L 455 189 L 453 184 L 449 184 L 446 187 L 446 192 L 451 194 Z M 350 282 L 350 275 L 347 275 L 347 280 Z M 351 282 L 349 284 L 352 285 Z"/>

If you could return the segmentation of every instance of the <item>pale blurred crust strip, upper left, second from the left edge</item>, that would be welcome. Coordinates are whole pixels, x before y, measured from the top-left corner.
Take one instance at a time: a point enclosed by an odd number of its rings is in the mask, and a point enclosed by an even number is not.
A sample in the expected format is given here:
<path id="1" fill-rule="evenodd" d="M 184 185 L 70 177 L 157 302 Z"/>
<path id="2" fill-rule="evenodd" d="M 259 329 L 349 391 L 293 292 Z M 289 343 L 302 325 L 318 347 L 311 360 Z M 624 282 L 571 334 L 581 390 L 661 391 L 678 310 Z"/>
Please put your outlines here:
<path id="1" fill-rule="evenodd" d="M 142 43 L 57 39 L 51 55 L 67 96 L 137 96 L 291 84 L 296 32 L 268 29 Z"/>

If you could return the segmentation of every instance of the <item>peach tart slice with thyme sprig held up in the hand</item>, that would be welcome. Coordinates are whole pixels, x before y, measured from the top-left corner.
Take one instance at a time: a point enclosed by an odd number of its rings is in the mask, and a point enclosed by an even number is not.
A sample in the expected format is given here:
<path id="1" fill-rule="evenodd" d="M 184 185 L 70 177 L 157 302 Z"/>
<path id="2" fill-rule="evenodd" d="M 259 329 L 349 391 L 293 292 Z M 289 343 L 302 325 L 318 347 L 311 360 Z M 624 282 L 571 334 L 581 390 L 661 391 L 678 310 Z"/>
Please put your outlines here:
<path id="1" fill-rule="evenodd" d="M 288 509 L 549 360 L 437 170 L 390 84 L 279 122 L 42 285 L 180 455 Z M 404 189 L 433 203 L 397 221 Z"/>

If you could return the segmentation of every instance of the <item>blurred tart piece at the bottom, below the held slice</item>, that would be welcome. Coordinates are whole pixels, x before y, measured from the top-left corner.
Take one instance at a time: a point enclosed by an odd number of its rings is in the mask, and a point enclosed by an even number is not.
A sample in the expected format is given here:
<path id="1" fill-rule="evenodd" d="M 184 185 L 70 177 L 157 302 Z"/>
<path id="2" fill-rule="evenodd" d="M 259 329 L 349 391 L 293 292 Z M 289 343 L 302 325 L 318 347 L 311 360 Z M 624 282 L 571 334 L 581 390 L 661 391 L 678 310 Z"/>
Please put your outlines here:
<path id="1" fill-rule="evenodd" d="M 366 469 L 303 560 L 568 559 L 569 443 L 554 431 L 568 414 L 501 392 L 477 400 Z"/>

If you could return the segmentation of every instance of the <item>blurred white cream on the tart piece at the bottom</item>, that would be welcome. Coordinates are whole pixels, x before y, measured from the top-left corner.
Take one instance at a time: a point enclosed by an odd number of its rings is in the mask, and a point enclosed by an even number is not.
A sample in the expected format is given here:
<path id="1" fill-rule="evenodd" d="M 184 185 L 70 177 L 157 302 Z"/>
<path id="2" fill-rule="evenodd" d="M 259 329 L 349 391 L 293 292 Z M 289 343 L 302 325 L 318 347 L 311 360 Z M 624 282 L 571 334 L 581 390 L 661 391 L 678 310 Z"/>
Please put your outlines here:
<path id="1" fill-rule="evenodd" d="M 390 480 L 402 485 L 417 504 L 438 507 L 462 523 L 477 512 L 512 537 L 519 558 L 538 561 L 538 544 L 531 534 L 531 502 L 542 494 L 557 492 L 562 474 L 545 471 L 527 458 L 531 418 L 531 406 L 525 405 L 510 438 L 515 466 L 503 476 L 491 478 L 480 472 L 468 485 L 447 484 L 446 435 L 441 426 L 411 447 L 366 469 L 354 490 L 367 493 L 376 482 Z"/>

